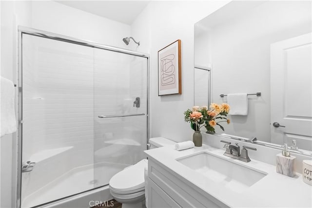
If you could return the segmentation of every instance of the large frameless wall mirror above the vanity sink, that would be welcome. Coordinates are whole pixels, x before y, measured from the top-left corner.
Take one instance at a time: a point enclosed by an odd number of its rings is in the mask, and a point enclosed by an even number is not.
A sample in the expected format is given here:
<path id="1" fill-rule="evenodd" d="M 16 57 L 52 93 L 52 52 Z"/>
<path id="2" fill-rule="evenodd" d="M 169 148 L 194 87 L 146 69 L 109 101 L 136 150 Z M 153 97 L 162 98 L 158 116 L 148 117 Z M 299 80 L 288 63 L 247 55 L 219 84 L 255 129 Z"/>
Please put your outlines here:
<path id="1" fill-rule="evenodd" d="M 225 132 L 216 128 L 217 133 L 293 148 L 295 140 L 299 149 L 312 151 L 311 4 L 231 1 L 195 23 L 195 70 L 211 70 L 200 84 L 211 85 L 211 101 L 221 104 L 228 102 L 228 94 L 261 93 L 248 95 L 248 114 L 228 115 L 231 124 Z M 200 105 L 200 77 L 194 75 L 195 105 Z"/>

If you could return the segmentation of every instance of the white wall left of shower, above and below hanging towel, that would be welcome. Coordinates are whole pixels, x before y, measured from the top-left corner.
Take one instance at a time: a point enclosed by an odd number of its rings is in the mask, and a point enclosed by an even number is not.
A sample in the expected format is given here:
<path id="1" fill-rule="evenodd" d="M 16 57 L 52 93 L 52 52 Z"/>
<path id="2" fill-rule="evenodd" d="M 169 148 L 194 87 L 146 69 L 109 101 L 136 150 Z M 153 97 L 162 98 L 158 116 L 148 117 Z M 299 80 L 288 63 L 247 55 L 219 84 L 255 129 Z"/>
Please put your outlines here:
<path id="1" fill-rule="evenodd" d="M 1 76 L 17 83 L 17 25 L 30 23 L 30 4 L 27 1 L 1 1 Z M 15 15 L 18 13 L 19 15 Z M 17 90 L 16 90 L 17 95 Z M 17 97 L 17 96 L 16 96 Z M 17 106 L 16 106 L 17 108 Z M 11 208 L 15 206 L 16 186 L 15 179 L 17 164 L 16 133 L 5 135 L 1 143 L 1 191 L 0 207 Z M 13 197 L 12 197 L 13 196 Z"/>

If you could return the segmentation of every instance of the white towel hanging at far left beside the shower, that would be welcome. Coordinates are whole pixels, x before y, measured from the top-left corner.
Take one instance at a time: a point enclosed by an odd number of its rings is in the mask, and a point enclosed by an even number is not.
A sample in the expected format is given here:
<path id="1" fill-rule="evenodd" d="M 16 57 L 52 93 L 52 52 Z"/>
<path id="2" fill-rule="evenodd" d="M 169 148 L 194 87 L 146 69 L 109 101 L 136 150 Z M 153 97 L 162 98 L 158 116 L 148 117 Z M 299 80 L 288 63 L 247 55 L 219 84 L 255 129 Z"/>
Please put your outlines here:
<path id="1" fill-rule="evenodd" d="M 15 89 L 9 79 L 0 78 L 0 137 L 4 134 L 16 132 L 15 117 Z"/>

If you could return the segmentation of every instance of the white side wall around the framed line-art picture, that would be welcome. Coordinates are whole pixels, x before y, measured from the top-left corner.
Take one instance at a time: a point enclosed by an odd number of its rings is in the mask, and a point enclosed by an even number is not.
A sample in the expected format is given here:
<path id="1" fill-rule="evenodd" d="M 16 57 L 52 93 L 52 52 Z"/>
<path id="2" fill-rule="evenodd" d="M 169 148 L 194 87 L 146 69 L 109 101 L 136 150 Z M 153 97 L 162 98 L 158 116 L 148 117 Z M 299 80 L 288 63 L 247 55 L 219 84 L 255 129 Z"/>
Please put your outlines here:
<path id="1" fill-rule="evenodd" d="M 152 1 L 132 24 L 131 35 L 140 41 L 140 46 L 133 49 L 150 54 L 151 137 L 175 141 L 192 138 L 183 112 L 194 104 L 194 23 L 227 2 Z M 158 96 L 157 52 L 177 39 L 181 39 L 182 95 Z"/>

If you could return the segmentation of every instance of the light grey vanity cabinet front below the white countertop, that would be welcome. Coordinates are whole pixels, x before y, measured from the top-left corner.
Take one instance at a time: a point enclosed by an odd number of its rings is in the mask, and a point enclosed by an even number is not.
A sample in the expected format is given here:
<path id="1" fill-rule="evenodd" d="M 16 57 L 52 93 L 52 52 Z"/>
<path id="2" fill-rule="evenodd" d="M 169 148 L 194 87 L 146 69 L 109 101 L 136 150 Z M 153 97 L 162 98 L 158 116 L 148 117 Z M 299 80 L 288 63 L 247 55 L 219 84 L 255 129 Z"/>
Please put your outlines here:
<path id="1" fill-rule="evenodd" d="M 149 157 L 148 208 L 229 207 Z"/>

